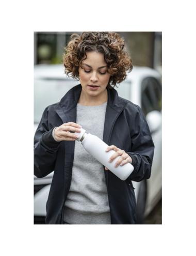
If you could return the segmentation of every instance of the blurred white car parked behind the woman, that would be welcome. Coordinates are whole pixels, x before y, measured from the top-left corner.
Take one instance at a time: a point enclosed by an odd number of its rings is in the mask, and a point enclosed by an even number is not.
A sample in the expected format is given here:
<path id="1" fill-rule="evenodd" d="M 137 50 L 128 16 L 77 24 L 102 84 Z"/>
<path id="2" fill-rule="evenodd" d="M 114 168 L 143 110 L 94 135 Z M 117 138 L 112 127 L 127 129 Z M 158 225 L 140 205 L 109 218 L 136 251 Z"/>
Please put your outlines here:
<path id="1" fill-rule="evenodd" d="M 80 83 L 64 74 L 63 65 L 37 65 L 34 68 L 34 129 L 41 119 L 43 110 L 60 101 L 73 86 Z M 135 67 L 127 79 L 118 84 L 119 96 L 139 105 L 149 124 L 155 145 L 151 178 L 133 181 L 137 202 L 137 223 L 142 223 L 161 198 L 161 76 L 148 67 Z M 53 173 L 44 178 L 34 176 L 34 220 L 43 223 L 46 216 L 46 201 Z"/>

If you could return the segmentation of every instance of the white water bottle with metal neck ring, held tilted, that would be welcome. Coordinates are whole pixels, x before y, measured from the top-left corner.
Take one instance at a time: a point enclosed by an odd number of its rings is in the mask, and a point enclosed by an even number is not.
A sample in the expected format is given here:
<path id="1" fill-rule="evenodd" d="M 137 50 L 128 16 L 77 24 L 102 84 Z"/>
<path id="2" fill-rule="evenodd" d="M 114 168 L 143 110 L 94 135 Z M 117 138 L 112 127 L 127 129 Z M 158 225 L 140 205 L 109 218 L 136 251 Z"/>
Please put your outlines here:
<path id="1" fill-rule="evenodd" d="M 106 152 L 108 145 L 101 140 L 99 137 L 92 135 L 90 133 L 86 133 L 86 130 L 81 128 L 80 133 L 76 133 L 79 136 L 77 140 L 83 145 L 87 152 L 89 152 L 97 161 L 106 166 L 113 174 L 119 177 L 121 180 L 125 180 L 128 176 L 133 172 L 134 166 L 130 163 L 126 163 L 123 166 L 115 167 L 116 162 L 120 158 L 117 157 L 111 163 L 109 162 L 109 158 L 115 150 L 110 150 Z"/>

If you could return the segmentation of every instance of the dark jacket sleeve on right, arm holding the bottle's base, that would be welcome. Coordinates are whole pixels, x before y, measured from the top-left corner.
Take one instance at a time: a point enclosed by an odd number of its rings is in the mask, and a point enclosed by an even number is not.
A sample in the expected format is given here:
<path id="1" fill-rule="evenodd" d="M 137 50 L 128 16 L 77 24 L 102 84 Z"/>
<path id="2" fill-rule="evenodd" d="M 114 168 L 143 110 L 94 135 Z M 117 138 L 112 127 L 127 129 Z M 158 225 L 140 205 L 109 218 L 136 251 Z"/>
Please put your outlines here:
<path id="1" fill-rule="evenodd" d="M 134 181 L 149 179 L 154 155 L 154 143 L 148 123 L 140 107 L 138 107 L 132 129 L 130 130 L 132 152 L 127 153 L 132 158 L 134 170 L 127 179 Z"/>

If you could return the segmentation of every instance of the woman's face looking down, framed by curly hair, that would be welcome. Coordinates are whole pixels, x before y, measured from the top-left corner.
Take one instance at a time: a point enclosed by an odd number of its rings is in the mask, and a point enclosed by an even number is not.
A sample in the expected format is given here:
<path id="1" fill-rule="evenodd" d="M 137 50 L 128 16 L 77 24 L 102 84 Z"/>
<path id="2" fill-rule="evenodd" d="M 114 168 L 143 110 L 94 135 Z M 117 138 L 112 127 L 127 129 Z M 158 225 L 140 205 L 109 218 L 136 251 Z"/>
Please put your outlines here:
<path id="1" fill-rule="evenodd" d="M 79 67 L 80 83 L 86 94 L 100 97 L 104 95 L 110 78 L 104 54 L 92 51 L 86 55 L 87 59 L 83 60 Z"/>

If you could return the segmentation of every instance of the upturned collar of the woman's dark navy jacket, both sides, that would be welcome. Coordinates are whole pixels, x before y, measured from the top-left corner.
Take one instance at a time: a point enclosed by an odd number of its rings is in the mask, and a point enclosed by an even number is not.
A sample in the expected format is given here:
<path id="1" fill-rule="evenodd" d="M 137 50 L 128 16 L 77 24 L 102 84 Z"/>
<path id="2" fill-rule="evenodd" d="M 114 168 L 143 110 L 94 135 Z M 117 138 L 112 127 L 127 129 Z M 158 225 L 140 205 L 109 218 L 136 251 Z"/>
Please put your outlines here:
<path id="1" fill-rule="evenodd" d="M 76 122 L 76 105 L 79 100 L 81 89 L 81 84 L 73 87 L 55 106 L 55 110 L 63 123 Z M 103 141 L 106 144 L 109 144 L 113 125 L 121 111 L 124 109 L 126 102 L 118 96 L 118 92 L 115 89 L 107 88 L 107 92 L 108 102 L 106 107 Z"/>

